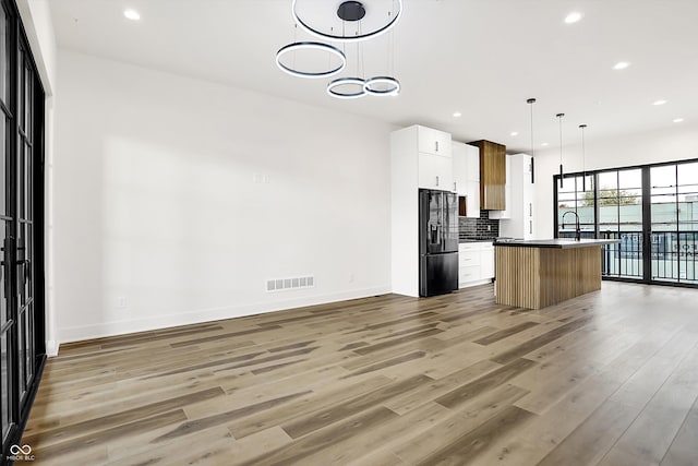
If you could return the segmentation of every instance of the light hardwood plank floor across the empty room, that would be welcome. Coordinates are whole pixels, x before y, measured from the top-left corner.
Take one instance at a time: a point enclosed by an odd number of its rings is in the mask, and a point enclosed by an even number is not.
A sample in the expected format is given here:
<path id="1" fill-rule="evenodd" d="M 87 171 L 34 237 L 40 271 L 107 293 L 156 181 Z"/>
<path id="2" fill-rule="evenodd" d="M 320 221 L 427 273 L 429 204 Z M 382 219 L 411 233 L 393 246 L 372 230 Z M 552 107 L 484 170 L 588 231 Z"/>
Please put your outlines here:
<path id="1" fill-rule="evenodd" d="M 493 287 L 61 347 L 36 465 L 696 465 L 698 290 Z"/>

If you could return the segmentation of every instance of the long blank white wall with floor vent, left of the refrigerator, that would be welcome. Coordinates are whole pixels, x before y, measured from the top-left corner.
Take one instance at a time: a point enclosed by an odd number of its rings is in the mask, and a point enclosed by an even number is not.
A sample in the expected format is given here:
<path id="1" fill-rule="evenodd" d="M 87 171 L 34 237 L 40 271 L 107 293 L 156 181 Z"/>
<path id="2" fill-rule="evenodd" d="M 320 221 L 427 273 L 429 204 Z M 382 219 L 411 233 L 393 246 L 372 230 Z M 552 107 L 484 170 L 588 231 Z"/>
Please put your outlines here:
<path id="1" fill-rule="evenodd" d="M 71 51 L 58 63 L 61 342 L 389 291 L 392 127 Z M 265 291 L 304 274 L 315 288 Z"/>

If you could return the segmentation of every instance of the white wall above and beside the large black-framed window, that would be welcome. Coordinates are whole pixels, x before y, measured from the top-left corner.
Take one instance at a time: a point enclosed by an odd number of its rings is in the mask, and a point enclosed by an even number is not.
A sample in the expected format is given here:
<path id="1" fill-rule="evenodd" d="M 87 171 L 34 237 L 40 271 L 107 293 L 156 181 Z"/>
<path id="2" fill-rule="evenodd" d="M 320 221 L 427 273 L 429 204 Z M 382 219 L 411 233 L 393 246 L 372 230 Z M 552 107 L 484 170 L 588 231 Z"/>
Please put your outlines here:
<path id="1" fill-rule="evenodd" d="M 655 131 L 593 140 L 586 133 L 587 170 L 622 168 L 658 162 L 698 158 L 698 124 L 675 124 Z M 566 172 L 582 170 L 581 144 L 563 147 Z M 553 176 L 559 172 L 559 147 L 535 154 L 537 238 L 553 237 Z"/>

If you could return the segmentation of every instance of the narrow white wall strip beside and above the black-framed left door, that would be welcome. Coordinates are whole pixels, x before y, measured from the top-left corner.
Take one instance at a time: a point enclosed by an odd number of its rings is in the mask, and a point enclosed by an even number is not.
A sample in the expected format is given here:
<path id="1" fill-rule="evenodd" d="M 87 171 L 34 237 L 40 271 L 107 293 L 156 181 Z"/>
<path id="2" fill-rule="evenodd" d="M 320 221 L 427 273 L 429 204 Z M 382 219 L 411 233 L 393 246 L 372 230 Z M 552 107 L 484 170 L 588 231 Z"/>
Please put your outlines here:
<path id="1" fill-rule="evenodd" d="M 24 24 L 24 29 L 32 48 L 37 71 L 44 85 L 46 95 L 44 124 L 45 144 L 45 230 L 46 246 L 45 266 L 45 298 L 46 298 L 46 353 L 49 356 L 58 354 L 58 338 L 56 312 L 53 311 L 53 121 L 56 101 L 56 57 L 58 53 L 56 34 L 51 22 L 51 11 L 48 0 L 17 0 L 17 9 Z"/>

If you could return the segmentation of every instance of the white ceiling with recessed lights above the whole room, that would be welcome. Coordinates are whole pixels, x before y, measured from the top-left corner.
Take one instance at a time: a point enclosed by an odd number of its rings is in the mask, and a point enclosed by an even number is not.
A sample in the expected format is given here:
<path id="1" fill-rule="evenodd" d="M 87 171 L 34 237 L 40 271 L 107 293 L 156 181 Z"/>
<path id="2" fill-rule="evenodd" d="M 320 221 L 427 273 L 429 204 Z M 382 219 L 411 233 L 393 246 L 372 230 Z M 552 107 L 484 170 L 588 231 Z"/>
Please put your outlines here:
<path id="1" fill-rule="evenodd" d="M 299 0 L 300 2 L 301 0 Z M 313 1 L 313 0 L 310 0 Z M 314 0 L 318 1 L 318 0 Z M 340 0 L 323 0 L 340 3 Z M 370 12 L 373 0 L 364 0 Z M 394 29 L 399 97 L 337 100 L 327 80 L 280 72 L 291 0 L 51 0 L 60 47 L 349 111 L 454 139 L 530 147 L 698 122 L 697 0 L 404 0 Z M 132 8 L 142 20 L 132 22 Z M 571 11 L 583 13 L 565 24 Z M 390 35 L 363 43 L 365 75 L 386 73 Z M 347 46 L 354 74 L 356 45 Z M 631 65 L 623 71 L 618 61 Z M 177 98 L 177 96 L 172 96 Z M 653 106 L 666 99 L 663 106 Z M 454 118 L 460 111 L 462 117 Z M 673 123 L 675 118 L 684 123 Z M 512 136 L 518 131 L 518 136 Z"/>

